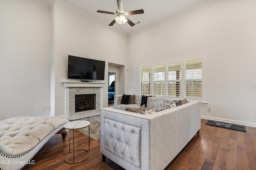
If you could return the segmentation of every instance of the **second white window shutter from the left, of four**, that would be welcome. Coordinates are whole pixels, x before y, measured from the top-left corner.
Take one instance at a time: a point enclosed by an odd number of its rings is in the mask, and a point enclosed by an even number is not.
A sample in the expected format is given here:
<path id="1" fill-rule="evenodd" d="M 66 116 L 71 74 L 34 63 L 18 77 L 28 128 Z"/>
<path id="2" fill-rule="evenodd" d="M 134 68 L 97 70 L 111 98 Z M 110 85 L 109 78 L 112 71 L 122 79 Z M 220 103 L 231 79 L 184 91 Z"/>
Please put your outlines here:
<path id="1" fill-rule="evenodd" d="M 165 81 L 165 66 L 154 66 L 153 67 L 153 95 L 164 96 L 164 81 Z"/>

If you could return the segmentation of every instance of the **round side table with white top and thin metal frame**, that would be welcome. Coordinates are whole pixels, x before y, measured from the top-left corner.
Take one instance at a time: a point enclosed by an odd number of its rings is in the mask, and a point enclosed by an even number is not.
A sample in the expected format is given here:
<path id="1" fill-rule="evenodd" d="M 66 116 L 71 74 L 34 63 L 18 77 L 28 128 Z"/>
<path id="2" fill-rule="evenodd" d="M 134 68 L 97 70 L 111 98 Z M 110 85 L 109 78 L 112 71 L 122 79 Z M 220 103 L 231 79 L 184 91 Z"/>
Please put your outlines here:
<path id="1" fill-rule="evenodd" d="M 90 121 L 85 121 L 85 120 L 80 120 L 80 121 L 71 121 L 69 123 L 66 123 L 64 125 L 64 128 L 68 129 L 69 130 L 69 152 L 68 154 L 66 154 L 64 160 L 68 163 L 78 163 L 78 162 L 82 162 L 83 160 L 86 160 L 89 156 L 90 156 Z M 75 150 L 75 143 L 74 143 L 74 129 L 82 129 L 82 128 L 85 128 L 85 127 L 88 127 L 88 132 L 89 132 L 89 149 L 77 149 Z M 73 151 L 70 152 L 70 130 L 73 131 Z M 78 150 L 84 150 L 86 152 L 88 152 L 88 156 L 82 160 L 79 160 L 79 161 L 76 161 L 75 162 L 75 152 L 78 151 Z M 73 162 L 70 162 L 68 160 L 66 160 L 66 157 L 73 153 Z"/>

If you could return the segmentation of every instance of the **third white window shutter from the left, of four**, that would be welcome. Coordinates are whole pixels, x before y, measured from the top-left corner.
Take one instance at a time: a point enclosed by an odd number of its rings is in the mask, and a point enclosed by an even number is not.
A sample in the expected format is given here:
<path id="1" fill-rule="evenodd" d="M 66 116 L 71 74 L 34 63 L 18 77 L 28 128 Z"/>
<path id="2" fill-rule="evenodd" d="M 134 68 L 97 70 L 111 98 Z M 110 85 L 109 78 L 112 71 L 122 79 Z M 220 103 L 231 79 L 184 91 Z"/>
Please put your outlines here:
<path id="1" fill-rule="evenodd" d="M 180 63 L 167 65 L 168 97 L 180 97 Z"/>

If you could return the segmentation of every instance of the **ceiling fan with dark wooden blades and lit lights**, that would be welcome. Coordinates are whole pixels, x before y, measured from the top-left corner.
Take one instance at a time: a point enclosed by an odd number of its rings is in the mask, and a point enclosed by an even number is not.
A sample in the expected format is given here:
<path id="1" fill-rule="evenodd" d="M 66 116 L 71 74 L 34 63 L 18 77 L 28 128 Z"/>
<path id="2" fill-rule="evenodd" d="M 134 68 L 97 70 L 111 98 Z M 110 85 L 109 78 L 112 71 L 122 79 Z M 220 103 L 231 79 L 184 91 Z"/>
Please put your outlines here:
<path id="1" fill-rule="evenodd" d="M 133 23 L 131 20 L 129 20 L 129 18 L 125 16 L 144 13 L 144 10 L 135 10 L 135 11 L 126 12 L 126 10 L 123 8 L 122 0 L 117 0 L 117 6 L 118 8 L 116 9 L 116 12 L 108 12 L 108 11 L 101 11 L 101 10 L 97 11 L 98 13 L 117 15 L 117 17 L 109 24 L 109 26 L 114 25 L 114 23 L 116 22 L 120 24 L 126 23 L 126 21 L 129 25 L 134 26 L 135 23 Z"/>

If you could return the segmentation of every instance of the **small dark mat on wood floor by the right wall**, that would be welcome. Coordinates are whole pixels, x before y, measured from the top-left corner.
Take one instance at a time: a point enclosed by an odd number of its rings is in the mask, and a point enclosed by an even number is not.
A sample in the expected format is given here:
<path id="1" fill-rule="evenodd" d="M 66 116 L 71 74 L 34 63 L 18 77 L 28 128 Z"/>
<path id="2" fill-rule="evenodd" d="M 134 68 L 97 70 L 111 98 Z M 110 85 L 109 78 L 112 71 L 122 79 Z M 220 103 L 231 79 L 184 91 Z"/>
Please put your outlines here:
<path id="1" fill-rule="evenodd" d="M 233 123 L 225 123 L 225 122 L 221 122 L 221 121 L 208 120 L 208 122 L 206 122 L 205 124 L 206 125 L 223 127 L 223 128 L 226 128 L 226 129 L 232 129 L 232 130 L 246 132 L 245 126 L 237 125 L 237 124 L 233 124 Z"/>

